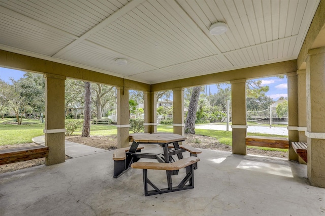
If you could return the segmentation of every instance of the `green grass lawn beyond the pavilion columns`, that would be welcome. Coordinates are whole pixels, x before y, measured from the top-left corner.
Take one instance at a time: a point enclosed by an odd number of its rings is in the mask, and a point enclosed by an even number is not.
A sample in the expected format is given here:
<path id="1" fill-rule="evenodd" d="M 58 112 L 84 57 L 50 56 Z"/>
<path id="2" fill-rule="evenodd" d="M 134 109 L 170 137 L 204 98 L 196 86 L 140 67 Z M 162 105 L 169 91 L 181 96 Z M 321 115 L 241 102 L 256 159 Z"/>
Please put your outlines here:
<path id="1" fill-rule="evenodd" d="M 42 136 L 44 123 L 40 123 L 39 120 L 34 119 L 23 119 L 22 125 L 9 124 L 13 123 L 15 119 L 0 119 L 0 146 L 1 145 L 14 145 L 21 143 L 30 143 L 31 139 L 34 137 Z M 7 123 L 7 124 L 6 124 Z M 81 128 L 77 129 L 73 135 L 81 135 Z M 158 125 L 157 132 L 173 133 L 172 125 Z M 133 132 L 130 132 L 133 133 Z M 227 131 L 215 131 L 211 129 L 196 129 L 196 134 L 205 135 L 209 137 L 214 137 L 218 141 L 225 145 L 232 145 L 232 132 Z M 117 135 L 117 128 L 115 125 L 105 125 L 105 124 L 92 124 L 90 126 L 91 136 L 109 136 Z M 255 134 L 247 133 L 251 136 L 268 136 L 268 137 L 285 137 L 279 135 L 271 134 Z M 275 149 L 275 148 L 264 148 L 264 147 L 249 147 L 257 148 L 269 151 L 287 151 L 285 149 Z"/>

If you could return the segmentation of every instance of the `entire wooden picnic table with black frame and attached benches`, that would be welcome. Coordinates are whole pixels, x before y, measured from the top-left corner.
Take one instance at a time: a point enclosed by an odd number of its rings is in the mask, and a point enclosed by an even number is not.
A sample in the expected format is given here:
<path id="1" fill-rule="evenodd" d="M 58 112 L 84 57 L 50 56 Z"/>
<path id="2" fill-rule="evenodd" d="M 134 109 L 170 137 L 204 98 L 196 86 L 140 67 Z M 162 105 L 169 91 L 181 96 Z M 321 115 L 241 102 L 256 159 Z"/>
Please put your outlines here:
<path id="1" fill-rule="evenodd" d="M 118 178 L 129 167 L 143 169 L 145 196 L 194 188 L 193 170 L 197 168 L 197 162 L 200 161 L 197 154 L 202 151 L 191 146 L 180 146 L 179 143 L 185 141 L 186 137 L 170 133 L 138 133 L 131 134 L 129 138 L 133 141 L 129 148 L 117 149 L 114 152 L 114 178 Z M 139 144 L 158 144 L 164 151 L 163 153 L 141 152 L 144 147 Z M 190 157 L 183 158 L 182 152 L 185 151 L 190 152 Z M 177 158 L 173 158 L 174 155 Z M 141 158 L 156 159 L 158 162 L 138 162 Z M 181 168 L 186 168 L 186 176 L 177 186 L 173 186 L 172 176 L 178 175 Z M 160 189 L 149 180 L 148 169 L 166 170 L 168 187 Z M 149 191 L 148 185 L 153 190 Z"/>

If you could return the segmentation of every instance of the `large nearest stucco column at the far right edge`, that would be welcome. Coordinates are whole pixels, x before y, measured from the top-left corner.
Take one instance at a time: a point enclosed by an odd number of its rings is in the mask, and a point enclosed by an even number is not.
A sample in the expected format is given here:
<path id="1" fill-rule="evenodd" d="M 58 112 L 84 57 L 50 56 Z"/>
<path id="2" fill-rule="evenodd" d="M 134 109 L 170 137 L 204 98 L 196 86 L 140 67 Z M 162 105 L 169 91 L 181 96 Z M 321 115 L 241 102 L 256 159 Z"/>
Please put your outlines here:
<path id="1" fill-rule="evenodd" d="M 325 47 L 312 49 L 306 61 L 307 174 L 312 186 L 325 188 Z"/>

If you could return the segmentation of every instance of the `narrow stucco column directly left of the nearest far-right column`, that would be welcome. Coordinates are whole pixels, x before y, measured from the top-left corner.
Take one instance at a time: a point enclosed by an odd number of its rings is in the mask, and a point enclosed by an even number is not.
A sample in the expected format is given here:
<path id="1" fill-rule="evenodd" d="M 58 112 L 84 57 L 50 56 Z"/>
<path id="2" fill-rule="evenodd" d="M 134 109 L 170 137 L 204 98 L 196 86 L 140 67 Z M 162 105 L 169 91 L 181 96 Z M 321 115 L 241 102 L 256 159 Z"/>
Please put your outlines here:
<path id="1" fill-rule="evenodd" d="M 299 142 L 307 142 L 305 132 L 307 131 L 306 111 L 306 69 L 298 70 L 298 132 Z"/>

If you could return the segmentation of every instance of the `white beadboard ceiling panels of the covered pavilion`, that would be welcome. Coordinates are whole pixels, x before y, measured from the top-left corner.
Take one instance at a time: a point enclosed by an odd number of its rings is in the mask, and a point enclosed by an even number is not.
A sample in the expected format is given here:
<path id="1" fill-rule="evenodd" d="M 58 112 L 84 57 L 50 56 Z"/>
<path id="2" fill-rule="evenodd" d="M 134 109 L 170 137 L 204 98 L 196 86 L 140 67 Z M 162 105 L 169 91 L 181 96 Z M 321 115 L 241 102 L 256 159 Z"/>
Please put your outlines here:
<path id="1" fill-rule="evenodd" d="M 0 49 L 154 84 L 297 59 L 319 1 L 0 0 Z"/>

